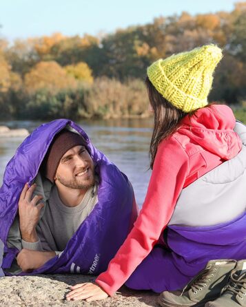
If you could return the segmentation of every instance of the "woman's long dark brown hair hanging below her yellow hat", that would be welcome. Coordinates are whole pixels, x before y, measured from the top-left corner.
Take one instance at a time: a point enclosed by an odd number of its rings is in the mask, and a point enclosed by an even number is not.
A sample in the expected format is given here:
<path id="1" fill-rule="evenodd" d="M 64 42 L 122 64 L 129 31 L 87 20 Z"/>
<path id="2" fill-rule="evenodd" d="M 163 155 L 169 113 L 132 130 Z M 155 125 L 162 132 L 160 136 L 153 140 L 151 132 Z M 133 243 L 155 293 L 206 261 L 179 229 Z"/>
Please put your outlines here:
<path id="1" fill-rule="evenodd" d="M 153 169 L 157 147 L 162 140 L 178 129 L 179 123 L 187 113 L 169 103 L 152 85 L 150 79 L 145 80 L 150 105 L 154 111 L 154 129 L 150 142 L 150 168 Z"/>

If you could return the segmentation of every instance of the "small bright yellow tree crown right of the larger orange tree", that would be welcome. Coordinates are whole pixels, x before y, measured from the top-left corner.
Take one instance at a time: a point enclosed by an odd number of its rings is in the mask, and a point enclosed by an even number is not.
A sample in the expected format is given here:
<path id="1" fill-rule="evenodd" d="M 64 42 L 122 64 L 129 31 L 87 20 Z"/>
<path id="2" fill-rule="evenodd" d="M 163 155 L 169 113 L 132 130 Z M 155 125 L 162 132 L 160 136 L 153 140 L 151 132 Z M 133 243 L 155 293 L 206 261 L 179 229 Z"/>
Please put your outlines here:
<path id="1" fill-rule="evenodd" d="M 73 76 L 76 80 L 90 84 L 93 83 L 92 70 L 87 63 L 80 62 L 76 65 L 65 66 L 64 68 L 67 74 Z"/>

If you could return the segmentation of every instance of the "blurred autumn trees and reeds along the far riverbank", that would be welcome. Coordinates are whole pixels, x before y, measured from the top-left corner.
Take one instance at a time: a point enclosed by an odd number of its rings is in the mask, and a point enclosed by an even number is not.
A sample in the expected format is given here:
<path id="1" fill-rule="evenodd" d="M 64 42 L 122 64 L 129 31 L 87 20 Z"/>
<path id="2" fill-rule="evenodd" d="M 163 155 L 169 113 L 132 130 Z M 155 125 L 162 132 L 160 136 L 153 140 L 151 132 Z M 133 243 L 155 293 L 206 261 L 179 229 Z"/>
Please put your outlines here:
<path id="1" fill-rule="evenodd" d="M 0 39 L 0 118 L 145 116 L 147 66 L 207 43 L 224 50 L 209 100 L 245 104 L 246 2 L 232 12 L 183 12 L 100 37 Z"/>

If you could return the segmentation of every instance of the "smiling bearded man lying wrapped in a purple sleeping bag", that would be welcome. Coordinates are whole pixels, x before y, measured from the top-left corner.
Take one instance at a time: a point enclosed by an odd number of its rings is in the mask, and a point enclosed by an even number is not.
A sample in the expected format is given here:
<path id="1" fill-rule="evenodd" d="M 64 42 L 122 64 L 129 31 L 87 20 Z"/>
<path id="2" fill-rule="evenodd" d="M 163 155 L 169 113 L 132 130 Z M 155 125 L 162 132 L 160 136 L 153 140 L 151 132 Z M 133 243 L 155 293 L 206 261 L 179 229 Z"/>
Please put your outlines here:
<path id="1" fill-rule="evenodd" d="M 97 275 L 136 220 L 127 177 L 71 120 L 35 129 L 0 189 L 0 276 Z"/>

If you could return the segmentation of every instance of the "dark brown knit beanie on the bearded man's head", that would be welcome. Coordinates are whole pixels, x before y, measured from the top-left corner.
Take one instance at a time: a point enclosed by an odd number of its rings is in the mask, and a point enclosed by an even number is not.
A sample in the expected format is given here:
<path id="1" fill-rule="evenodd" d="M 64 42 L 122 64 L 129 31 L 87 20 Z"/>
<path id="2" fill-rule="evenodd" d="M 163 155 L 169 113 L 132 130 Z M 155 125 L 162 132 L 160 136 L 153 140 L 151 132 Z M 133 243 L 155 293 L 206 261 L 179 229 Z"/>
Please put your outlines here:
<path id="1" fill-rule="evenodd" d="M 57 167 L 63 156 L 69 149 L 74 146 L 86 146 L 86 142 L 82 136 L 68 130 L 62 130 L 52 140 L 50 147 L 43 159 L 43 173 L 52 183 L 57 173 Z"/>

